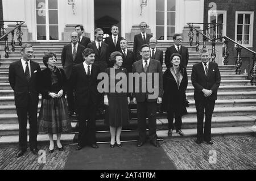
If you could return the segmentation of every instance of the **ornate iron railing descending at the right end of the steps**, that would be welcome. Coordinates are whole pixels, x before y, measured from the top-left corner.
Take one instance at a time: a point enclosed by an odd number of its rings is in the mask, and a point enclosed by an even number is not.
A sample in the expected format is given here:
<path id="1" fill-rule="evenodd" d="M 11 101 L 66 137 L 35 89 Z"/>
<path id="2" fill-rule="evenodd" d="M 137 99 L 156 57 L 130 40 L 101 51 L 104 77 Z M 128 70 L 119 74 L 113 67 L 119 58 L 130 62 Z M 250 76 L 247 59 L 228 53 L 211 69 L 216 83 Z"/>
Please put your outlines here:
<path id="1" fill-rule="evenodd" d="M 193 30 L 196 31 L 196 51 L 199 51 L 199 35 L 201 34 L 203 36 L 203 48 L 206 47 L 206 41 L 212 41 L 212 53 L 211 53 L 211 57 L 212 57 L 212 61 L 215 62 L 215 58 L 216 58 L 216 51 L 215 51 L 215 45 L 216 45 L 216 41 L 220 40 L 221 42 L 224 39 L 224 52 L 223 52 L 223 58 L 224 58 L 224 65 L 228 65 L 228 57 L 229 57 L 229 51 L 228 51 L 228 43 L 229 41 L 233 42 L 234 44 L 237 45 L 237 60 L 236 60 L 236 74 L 241 74 L 241 65 L 242 65 L 242 60 L 241 60 L 241 50 L 245 49 L 251 53 L 253 53 L 253 67 L 251 68 L 250 71 L 250 76 L 252 77 L 251 79 L 251 85 L 255 85 L 256 86 L 256 52 L 254 52 L 253 50 L 250 50 L 249 48 L 244 47 L 243 45 L 237 43 L 236 41 L 230 39 L 228 36 L 222 36 L 222 33 L 220 34 L 220 37 L 216 37 L 216 28 L 220 25 L 220 23 L 216 23 L 216 25 L 214 25 L 214 23 L 187 23 L 189 26 L 189 41 L 190 41 L 190 45 L 193 45 L 193 36 L 195 35 L 193 33 Z M 203 24 L 204 27 L 207 26 L 209 28 L 213 28 L 213 36 L 212 38 L 210 36 L 208 36 L 208 29 L 206 28 L 204 30 L 197 30 L 193 25 L 194 24 Z M 209 24 L 213 24 L 213 26 L 209 26 Z M 222 26 L 222 24 L 221 24 Z M 203 32 L 203 33 L 202 33 Z"/>

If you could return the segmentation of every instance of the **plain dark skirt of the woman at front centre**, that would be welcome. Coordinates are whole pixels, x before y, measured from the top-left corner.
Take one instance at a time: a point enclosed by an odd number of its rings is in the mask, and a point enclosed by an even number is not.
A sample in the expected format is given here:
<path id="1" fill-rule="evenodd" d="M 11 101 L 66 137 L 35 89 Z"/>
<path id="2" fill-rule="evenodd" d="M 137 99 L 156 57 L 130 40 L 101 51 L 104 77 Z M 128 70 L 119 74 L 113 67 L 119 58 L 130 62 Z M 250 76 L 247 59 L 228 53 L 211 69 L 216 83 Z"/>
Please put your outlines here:
<path id="1" fill-rule="evenodd" d="M 106 107 L 105 124 L 110 127 L 122 127 L 129 122 L 127 96 L 108 96 L 109 106 Z"/>

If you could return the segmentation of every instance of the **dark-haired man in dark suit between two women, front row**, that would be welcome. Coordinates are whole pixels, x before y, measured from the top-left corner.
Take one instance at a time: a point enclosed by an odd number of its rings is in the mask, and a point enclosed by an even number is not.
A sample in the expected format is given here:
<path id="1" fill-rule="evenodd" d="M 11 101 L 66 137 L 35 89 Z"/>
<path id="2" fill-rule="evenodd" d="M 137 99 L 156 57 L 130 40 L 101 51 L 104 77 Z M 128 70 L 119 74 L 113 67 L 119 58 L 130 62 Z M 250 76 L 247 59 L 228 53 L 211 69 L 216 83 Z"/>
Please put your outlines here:
<path id="1" fill-rule="evenodd" d="M 98 148 L 96 144 L 96 108 L 98 104 L 98 74 L 100 68 L 93 64 L 95 52 L 86 48 L 82 52 L 84 62 L 75 65 L 72 71 L 72 86 L 75 89 L 75 103 L 79 119 L 79 145 L 76 150 L 84 145 Z"/>

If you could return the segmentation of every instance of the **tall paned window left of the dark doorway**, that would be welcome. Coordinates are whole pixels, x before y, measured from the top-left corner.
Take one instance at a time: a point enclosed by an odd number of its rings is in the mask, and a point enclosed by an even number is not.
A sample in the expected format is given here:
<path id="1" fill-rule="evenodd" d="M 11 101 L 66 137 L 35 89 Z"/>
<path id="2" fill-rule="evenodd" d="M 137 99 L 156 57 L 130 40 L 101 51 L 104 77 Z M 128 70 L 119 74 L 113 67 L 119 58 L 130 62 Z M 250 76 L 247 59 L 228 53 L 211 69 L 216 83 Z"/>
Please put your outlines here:
<path id="1" fill-rule="evenodd" d="M 57 0 L 35 1 L 37 40 L 59 40 Z"/>

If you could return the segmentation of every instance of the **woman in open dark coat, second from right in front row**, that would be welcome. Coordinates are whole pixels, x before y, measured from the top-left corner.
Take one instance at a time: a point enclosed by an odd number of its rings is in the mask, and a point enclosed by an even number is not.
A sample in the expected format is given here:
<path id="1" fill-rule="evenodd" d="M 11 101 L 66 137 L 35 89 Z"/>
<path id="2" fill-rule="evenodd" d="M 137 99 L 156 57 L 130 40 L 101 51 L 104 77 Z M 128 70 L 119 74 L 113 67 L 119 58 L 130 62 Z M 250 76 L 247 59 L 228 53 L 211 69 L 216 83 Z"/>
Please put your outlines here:
<path id="1" fill-rule="evenodd" d="M 180 65 L 181 55 L 173 53 L 170 57 L 170 68 L 163 74 L 163 108 L 167 112 L 168 136 L 172 136 L 173 121 L 175 114 L 175 128 L 180 136 L 181 116 L 187 114 L 185 91 L 188 86 L 187 70 Z"/>

